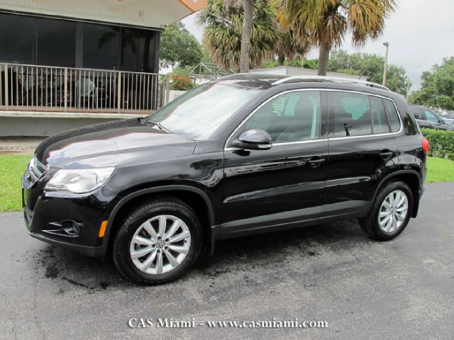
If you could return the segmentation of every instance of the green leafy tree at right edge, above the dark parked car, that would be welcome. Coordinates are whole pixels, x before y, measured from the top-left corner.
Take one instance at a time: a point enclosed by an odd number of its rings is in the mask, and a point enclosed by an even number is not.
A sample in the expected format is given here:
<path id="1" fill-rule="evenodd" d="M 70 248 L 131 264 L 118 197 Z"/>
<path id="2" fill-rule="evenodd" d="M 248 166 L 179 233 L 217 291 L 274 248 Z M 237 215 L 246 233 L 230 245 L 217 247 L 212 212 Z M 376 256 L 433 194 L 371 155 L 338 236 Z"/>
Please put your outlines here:
<path id="1" fill-rule="evenodd" d="M 454 57 L 444 58 L 431 71 L 423 72 L 421 89 L 409 96 L 410 103 L 454 110 Z"/>

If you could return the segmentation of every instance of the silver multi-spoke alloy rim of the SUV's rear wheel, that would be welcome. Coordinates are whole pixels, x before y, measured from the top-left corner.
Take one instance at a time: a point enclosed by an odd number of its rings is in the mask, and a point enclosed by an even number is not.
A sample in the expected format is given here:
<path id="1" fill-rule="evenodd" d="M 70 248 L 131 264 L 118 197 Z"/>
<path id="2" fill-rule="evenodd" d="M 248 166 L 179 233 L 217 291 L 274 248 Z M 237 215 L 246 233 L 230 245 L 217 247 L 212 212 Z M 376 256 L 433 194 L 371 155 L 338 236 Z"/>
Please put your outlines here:
<path id="1" fill-rule="evenodd" d="M 409 211 L 409 199 L 402 190 L 389 193 L 378 212 L 378 225 L 382 232 L 395 232 L 405 221 Z"/>

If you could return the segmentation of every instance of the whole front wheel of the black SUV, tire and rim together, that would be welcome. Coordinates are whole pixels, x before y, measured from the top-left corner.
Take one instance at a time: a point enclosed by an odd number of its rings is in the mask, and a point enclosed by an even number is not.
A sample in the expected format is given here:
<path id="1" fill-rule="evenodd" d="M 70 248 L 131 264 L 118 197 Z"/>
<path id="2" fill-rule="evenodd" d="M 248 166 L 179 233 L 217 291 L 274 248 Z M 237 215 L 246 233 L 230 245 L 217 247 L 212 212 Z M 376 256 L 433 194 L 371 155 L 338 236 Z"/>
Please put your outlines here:
<path id="1" fill-rule="evenodd" d="M 126 278 L 147 285 L 167 283 L 192 266 L 201 243 L 194 210 L 176 198 L 160 198 L 126 216 L 114 239 L 113 258 Z"/>

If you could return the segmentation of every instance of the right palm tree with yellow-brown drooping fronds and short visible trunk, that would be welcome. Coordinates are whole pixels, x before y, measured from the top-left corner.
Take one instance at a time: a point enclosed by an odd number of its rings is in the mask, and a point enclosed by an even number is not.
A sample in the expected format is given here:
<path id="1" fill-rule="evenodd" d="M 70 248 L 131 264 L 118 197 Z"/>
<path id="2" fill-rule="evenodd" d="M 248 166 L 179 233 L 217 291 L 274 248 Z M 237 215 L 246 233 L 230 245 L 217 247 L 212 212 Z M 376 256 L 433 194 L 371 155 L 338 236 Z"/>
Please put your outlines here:
<path id="1" fill-rule="evenodd" d="M 353 45 L 376 39 L 387 18 L 397 7 L 396 0 L 272 0 L 277 20 L 284 27 L 297 27 L 319 47 L 319 75 L 326 75 L 329 52 L 340 47 L 348 30 Z"/>

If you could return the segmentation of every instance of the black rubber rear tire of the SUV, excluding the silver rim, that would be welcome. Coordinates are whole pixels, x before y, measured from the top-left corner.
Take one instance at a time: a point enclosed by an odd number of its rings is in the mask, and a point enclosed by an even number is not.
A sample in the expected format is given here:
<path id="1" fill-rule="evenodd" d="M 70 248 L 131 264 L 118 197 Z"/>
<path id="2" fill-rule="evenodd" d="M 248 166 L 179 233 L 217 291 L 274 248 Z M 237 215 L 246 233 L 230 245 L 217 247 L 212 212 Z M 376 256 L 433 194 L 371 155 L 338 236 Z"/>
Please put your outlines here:
<path id="1" fill-rule="evenodd" d="M 406 198 L 408 199 L 408 210 L 406 212 L 406 216 L 402 222 L 402 225 L 394 230 L 394 232 L 384 232 L 378 222 L 378 214 L 385 198 L 387 198 L 389 193 L 397 190 L 405 193 Z M 360 220 L 360 227 L 362 231 L 368 234 L 371 239 L 375 239 L 376 241 L 389 241 L 390 239 L 394 239 L 394 237 L 397 237 L 397 235 L 404 231 L 406 225 L 408 225 L 409 223 L 412 210 L 413 193 L 411 192 L 409 186 L 402 181 L 387 181 L 387 183 L 385 183 L 377 193 L 377 197 L 375 198 L 375 202 L 372 205 L 372 209 L 370 210 L 369 215 Z"/>

